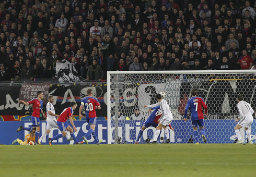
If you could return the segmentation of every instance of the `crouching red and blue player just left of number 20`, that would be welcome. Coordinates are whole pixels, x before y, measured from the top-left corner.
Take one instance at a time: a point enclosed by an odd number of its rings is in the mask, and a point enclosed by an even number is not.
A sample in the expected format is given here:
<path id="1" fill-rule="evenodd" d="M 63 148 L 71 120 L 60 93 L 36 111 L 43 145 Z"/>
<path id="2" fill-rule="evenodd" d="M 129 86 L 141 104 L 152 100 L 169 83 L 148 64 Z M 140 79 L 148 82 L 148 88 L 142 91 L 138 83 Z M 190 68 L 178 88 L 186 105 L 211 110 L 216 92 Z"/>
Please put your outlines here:
<path id="1" fill-rule="evenodd" d="M 53 140 L 57 140 L 59 138 L 62 137 L 66 137 L 67 136 L 67 131 L 70 132 L 71 137 L 73 137 L 73 140 L 75 141 L 76 144 L 83 144 L 84 142 L 78 142 L 77 138 L 74 134 L 73 129 L 67 124 L 67 119 L 69 119 L 70 123 L 72 124 L 75 132 L 77 131 L 75 124 L 73 122 L 73 113 L 74 110 L 76 109 L 77 104 L 76 102 L 71 102 L 70 103 L 70 107 L 64 109 L 60 115 L 60 117 L 57 119 L 57 125 L 59 126 L 59 129 L 61 131 L 61 134 L 57 134 L 56 136 L 52 137 L 52 138 L 48 138 L 48 142 L 50 145 L 52 145 L 52 141 Z"/>

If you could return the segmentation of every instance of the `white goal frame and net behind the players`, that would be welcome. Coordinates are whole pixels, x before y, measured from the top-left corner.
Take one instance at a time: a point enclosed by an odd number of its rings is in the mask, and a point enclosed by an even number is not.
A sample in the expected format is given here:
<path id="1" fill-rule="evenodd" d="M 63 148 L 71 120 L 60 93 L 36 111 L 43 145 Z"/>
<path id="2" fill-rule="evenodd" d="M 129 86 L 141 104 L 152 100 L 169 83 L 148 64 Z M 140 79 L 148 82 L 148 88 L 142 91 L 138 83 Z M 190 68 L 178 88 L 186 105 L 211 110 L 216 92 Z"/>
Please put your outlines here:
<path id="1" fill-rule="evenodd" d="M 133 143 L 150 115 L 149 109 L 143 106 L 157 103 L 155 97 L 160 92 L 166 93 L 173 115 L 174 131 L 169 130 L 171 143 L 193 143 L 191 120 L 184 122 L 183 115 L 194 88 L 208 107 L 208 116 L 204 116 L 207 143 L 233 143 L 238 117 L 236 97 L 242 94 L 256 110 L 255 79 L 253 70 L 108 72 L 108 143 Z M 254 129 L 253 123 L 252 140 L 256 138 Z M 241 136 L 246 141 L 243 130 Z M 154 132 L 154 127 L 146 129 L 139 143 L 152 142 Z M 160 136 L 164 137 L 164 131 Z"/>

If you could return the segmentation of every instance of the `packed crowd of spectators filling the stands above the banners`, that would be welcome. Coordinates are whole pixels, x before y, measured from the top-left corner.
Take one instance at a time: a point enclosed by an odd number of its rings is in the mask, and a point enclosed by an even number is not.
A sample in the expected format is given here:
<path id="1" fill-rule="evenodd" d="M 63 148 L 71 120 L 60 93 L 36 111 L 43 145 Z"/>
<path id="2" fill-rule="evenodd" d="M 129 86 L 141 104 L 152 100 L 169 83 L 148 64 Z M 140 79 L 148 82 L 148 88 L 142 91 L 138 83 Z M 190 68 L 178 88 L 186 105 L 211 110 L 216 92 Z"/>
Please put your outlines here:
<path id="1" fill-rule="evenodd" d="M 255 1 L 2 0 L 0 81 L 256 68 Z"/>

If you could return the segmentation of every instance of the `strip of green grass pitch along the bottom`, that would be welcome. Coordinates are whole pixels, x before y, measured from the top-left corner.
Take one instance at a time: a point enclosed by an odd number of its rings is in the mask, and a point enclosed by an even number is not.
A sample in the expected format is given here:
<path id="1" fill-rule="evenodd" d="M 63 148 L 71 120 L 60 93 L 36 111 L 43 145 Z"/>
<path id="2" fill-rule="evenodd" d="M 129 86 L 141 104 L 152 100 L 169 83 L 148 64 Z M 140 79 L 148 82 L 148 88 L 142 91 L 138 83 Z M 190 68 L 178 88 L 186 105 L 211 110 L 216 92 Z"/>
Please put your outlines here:
<path id="1" fill-rule="evenodd" d="M 1 145 L 1 176 L 254 176 L 256 144 Z"/>

